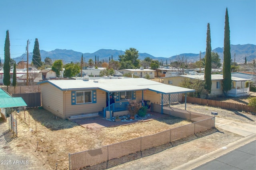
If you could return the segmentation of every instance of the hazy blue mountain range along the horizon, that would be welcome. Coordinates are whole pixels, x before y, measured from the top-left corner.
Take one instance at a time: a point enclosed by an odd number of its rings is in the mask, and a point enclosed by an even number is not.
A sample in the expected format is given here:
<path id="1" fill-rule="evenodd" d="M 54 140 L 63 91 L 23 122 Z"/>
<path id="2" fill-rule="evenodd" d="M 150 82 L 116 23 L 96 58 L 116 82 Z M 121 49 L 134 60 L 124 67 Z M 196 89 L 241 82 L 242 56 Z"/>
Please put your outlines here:
<path id="1" fill-rule="evenodd" d="M 220 56 L 221 62 L 223 62 L 223 47 L 218 47 L 216 49 L 213 49 L 212 51 L 214 53 L 218 53 Z M 234 57 L 236 57 L 236 63 L 244 63 L 245 62 L 245 57 L 247 62 L 252 62 L 254 59 L 256 59 L 256 45 L 253 44 L 245 44 L 245 45 L 230 45 L 230 53 L 231 53 L 231 59 L 234 61 Z M 235 55 L 236 54 L 236 55 Z M 114 60 L 118 60 L 119 55 L 124 55 L 124 51 L 120 50 L 112 50 L 112 49 L 100 49 L 94 53 L 81 53 L 73 50 L 66 50 L 66 49 L 55 49 L 53 51 L 44 51 L 40 50 L 40 55 L 42 58 L 42 61 L 46 57 L 49 57 L 52 59 L 52 61 L 61 59 L 64 64 L 70 63 L 71 61 L 73 63 L 80 62 L 81 57 L 83 55 L 83 58 L 85 61 L 88 61 L 89 59 L 92 59 L 95 61 L 95 56 L 96 59 L 99 61 L 109 61 L 109 58 L 113 58 Z M 32 56 L 33 53 L 29 53 L 28 55 L 28 61 L 31 63 L 32 61 Z M 176 61 L 176 57 L 185 57 L 188 59 L 188 62 L 195 62 L 200 59 L 200 54 L 195 54 L 195 53 L 183 53 L 180 55 L 174 55 L 172 57 L 166 58 L 166 57 L 154 57 L 148 53 L 139 53 L 138 59 L 143 60 L 145 57 L 150 57 L 153 60 L 158 60 L 158 61 L 163 61 L 164 63 L 166 60 L 168 63 L 170 61 Z M 205 56 L 205 52 L 201 53 L 201 58 Z M 27 55 L 23 54 L 20 57 L 13 58 L 16 63 L 19 61 L 27 61 Z"/>

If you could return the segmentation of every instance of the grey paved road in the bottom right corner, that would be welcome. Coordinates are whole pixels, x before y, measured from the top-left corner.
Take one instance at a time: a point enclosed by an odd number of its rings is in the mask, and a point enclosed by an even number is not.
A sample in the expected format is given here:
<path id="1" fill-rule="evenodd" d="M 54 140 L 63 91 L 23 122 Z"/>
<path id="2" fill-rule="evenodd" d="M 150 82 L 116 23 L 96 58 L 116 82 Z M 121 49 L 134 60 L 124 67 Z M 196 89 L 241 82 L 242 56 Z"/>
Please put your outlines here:
<path id="1" fill-rule="evenodd" d="M 255 170 L 256 141 L 248 143 L 194 170 Z"/>

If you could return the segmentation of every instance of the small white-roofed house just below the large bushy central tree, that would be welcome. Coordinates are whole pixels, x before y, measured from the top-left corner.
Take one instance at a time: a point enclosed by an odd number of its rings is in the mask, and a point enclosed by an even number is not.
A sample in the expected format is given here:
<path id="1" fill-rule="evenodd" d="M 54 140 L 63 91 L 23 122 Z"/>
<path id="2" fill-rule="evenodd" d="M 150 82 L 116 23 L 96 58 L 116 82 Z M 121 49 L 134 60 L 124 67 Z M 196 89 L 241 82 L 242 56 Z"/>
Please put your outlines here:
<path id="1" fill-rule="evenodd" d="M 122 70 L 118 70 L 120 73 L 122 74 L 126 74 L 126 73 L 131 73 L 135 76 L 138 76 L 140 78 L 145 78 L 145 76 L 148 74 L 150 78 L 154 78 L 155 77 L 155 70 L 151 70 L 151 69 L 122 69 Z"/>

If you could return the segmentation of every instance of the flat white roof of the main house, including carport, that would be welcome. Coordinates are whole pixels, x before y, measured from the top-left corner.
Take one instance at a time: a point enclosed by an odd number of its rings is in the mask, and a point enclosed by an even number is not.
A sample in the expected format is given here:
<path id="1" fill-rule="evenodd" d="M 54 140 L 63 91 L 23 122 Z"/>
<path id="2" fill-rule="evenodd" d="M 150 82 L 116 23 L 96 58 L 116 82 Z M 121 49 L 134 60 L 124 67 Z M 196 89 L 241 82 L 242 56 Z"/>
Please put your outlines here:
<path id="1" fill-rule="evenodd" d="M 85 90 L 101 89 L 106 92 L 120 92 L 132 90 L 151 90 L 163 94 L 187 93 L 195 90 L 162 84 L 145 78 L 121 78 L 99 80 L 48 80 L 42 83 L 50 83 L 60 90 Z"/>

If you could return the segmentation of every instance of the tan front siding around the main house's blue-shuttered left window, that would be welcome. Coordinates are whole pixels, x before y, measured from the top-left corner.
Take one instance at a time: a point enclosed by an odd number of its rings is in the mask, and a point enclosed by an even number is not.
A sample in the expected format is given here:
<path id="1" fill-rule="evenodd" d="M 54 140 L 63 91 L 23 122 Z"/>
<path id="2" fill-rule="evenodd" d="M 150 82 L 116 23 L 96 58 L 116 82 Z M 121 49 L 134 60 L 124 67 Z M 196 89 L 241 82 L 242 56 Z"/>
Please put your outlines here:
<path id="1" fill-rule="evenodd" d="M 72 115 L 79 115 L 81 113 L 97 113 L 102 111 L 103 107 L 106 107 L 106 92 L 102 90 L 96 90 L 96 100 L 95 104 L 71 104 L 71 91 L 65 94 L 65 118 Z"/>

